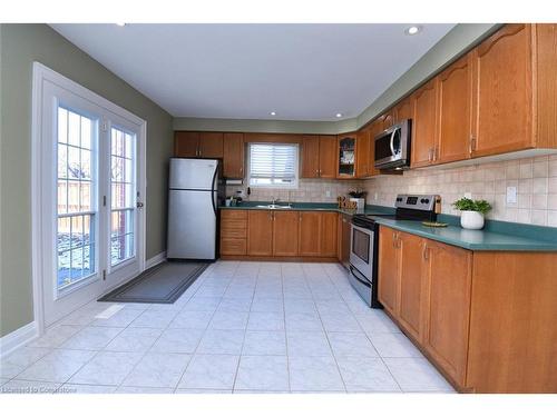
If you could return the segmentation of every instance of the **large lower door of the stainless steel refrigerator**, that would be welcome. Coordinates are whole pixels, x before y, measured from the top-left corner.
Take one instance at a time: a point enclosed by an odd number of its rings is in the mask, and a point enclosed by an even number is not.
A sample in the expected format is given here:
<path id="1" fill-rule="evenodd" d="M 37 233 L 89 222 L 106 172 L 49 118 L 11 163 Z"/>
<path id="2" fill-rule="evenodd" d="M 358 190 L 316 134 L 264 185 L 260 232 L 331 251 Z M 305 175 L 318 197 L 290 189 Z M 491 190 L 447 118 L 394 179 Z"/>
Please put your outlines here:
<path id="1" fill-rule="evenodd" d="M 168 191 L 168 245 L 170 259 L 216 258 L 215 192 Z"/>

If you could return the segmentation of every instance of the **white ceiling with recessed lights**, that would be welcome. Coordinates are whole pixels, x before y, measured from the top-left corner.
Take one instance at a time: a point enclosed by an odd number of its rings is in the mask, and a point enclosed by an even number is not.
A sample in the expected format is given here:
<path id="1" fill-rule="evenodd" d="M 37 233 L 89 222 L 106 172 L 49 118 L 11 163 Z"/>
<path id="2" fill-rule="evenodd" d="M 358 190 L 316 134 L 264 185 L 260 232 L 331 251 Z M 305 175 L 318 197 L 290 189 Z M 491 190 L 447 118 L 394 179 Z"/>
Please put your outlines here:
<path id="1" fill-rule="evenodd" d="M 455 24 L 52 24 L 175 117 L 360 115 Z M 271 116 L 276 111 L 276 116 Z"/>

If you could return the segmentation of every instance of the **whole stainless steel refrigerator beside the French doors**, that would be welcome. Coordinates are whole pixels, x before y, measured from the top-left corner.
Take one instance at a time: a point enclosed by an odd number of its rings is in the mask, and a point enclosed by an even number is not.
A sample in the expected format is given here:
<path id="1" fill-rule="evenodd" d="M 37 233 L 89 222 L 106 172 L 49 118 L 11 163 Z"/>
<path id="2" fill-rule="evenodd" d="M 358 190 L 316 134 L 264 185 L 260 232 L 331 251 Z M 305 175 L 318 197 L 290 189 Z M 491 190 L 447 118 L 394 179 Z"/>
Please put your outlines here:
<path id="1" fill-rule="evenodd" d="M 168 259 L 217 257 L 218 205 L 224 182 L 217 159 L 170 158 Z"/>

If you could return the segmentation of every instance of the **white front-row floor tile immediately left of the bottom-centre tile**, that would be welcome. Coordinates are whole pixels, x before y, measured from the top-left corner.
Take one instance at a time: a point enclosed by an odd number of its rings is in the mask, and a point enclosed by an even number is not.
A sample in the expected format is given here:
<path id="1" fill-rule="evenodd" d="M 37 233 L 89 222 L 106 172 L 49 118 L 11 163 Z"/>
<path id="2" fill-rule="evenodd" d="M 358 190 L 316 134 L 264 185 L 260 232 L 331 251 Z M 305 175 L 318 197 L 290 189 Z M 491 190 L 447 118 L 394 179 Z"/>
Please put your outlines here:
<path id="1" fill-rule="evenodd" d="M 234 355 L 195 355 L 178 388 L 232 389 L 238 359 Z"/>

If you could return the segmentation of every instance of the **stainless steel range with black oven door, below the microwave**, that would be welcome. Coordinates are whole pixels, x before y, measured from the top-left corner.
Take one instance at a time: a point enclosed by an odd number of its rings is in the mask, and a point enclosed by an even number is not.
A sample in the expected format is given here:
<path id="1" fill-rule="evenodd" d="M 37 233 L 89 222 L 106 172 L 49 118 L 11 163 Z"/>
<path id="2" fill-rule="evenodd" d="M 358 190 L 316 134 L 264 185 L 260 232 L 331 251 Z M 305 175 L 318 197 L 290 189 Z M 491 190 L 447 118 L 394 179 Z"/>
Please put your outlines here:
<path id="1" fill-rule="evenodd" d="M 397 220 L 434 221 L 437 219 L 434 195 L 398 195 L 395 212 L 354 215 L 350 234 L 350 282 L 372 308 L 382 308 L 378 300 L 378 217 Z"/>

